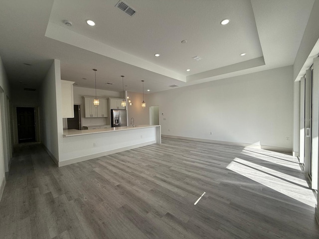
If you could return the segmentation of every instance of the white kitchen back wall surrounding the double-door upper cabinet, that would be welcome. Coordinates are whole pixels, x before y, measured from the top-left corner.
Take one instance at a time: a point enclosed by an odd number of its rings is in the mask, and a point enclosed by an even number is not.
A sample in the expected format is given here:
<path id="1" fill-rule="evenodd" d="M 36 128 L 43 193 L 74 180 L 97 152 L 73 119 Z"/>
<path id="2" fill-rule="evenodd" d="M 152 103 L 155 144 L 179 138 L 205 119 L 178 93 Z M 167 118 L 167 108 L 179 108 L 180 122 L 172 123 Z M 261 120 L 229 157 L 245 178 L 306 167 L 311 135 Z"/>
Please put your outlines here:
<path id="1" fill-rule="evenodd" d="M 121 92 L 97 90 L 97 97 L 121 98 Z M 82 126 L 110 124 L 110 116 L 107 118 L 85 118 L 83 96 L 95 96 L 95 89 L 73 86 L 73 99 L 75 105 L 81 105 Z M 110 109 L 108 109 L 110 114 Z"/>

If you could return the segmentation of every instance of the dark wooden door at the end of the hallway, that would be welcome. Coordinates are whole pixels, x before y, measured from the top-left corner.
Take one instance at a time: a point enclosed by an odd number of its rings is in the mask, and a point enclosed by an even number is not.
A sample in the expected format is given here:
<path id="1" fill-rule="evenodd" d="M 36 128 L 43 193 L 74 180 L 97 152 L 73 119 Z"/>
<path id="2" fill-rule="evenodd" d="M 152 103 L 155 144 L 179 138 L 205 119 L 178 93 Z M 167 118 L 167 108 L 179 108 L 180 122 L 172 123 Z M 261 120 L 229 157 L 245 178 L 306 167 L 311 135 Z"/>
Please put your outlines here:
<path id="1" fill-rule="evenodd" d="M 16 116 L 18 123 L 18 142 L 35 141 L 34 108 L 17 107 Z"/>

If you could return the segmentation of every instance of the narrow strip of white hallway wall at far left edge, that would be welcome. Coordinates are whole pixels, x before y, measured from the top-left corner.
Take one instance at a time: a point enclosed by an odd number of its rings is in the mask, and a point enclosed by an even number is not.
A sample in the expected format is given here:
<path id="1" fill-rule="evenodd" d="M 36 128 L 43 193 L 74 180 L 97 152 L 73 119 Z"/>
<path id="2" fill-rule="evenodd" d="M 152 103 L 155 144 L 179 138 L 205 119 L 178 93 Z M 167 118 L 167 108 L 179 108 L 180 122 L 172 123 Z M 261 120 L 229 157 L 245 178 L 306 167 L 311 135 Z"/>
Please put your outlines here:
<path id="1" fill-rule="evenodd" d="M 0 200 L 5 185 L 5 171 L 8 171 L 10 164 L 10 147 L 11 141 L 8 138 L 7 126 L 7 96 L 9 96 L 9 85 L 6 73 L 0 57 Z"/>

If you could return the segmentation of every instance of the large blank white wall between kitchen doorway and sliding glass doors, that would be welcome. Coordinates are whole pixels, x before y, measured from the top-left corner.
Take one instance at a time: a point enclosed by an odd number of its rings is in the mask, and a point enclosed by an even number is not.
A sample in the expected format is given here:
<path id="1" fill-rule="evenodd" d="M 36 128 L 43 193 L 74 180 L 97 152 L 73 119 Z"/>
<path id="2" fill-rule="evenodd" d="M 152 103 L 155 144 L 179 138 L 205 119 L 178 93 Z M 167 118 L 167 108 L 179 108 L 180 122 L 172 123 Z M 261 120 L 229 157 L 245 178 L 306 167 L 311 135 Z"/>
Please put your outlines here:
<path id="1" fill-rule="evenodd" d="M 287 66 L 154 93 L 148 104 L 160 107 L 162 134 L 292 150 L 292 79 Z"/>

